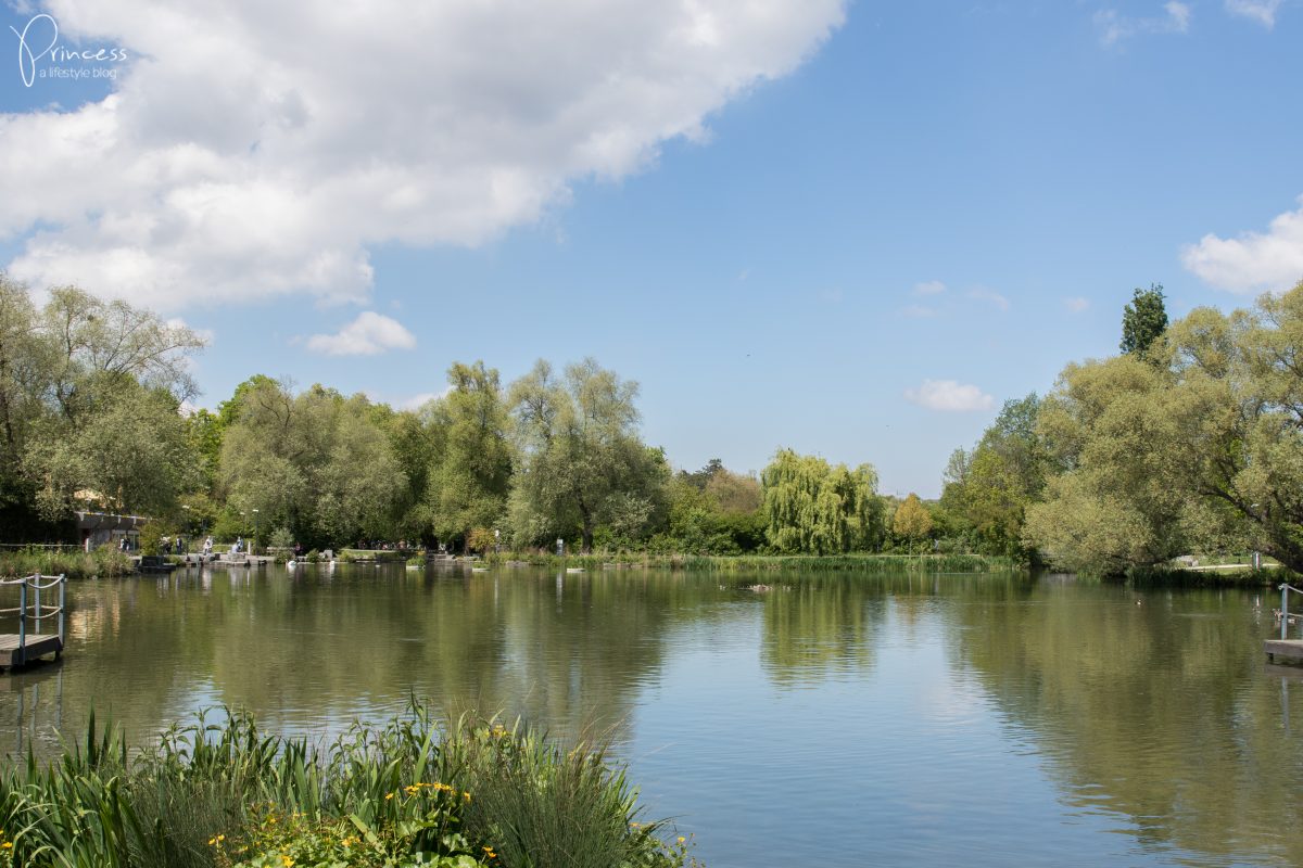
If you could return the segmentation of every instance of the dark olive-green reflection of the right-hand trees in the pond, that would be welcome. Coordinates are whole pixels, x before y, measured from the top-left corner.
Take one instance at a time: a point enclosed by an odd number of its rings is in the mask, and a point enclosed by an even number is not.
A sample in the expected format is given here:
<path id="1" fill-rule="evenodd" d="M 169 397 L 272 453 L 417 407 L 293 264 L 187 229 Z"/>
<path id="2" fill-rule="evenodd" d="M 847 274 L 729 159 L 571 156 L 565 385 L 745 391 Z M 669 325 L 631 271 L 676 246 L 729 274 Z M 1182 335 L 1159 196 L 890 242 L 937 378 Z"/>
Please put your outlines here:
<path id="1" fill-rule="evenodd" d="M 1053 757 L 1079 813 L 1130 817 L 1162 851 L 1303 864 L 1299 671 L 1268 668 L 1270 625 L 1230 591 L 1045 583 L 1022 605 L 963 606 L 959 661 Z"/>

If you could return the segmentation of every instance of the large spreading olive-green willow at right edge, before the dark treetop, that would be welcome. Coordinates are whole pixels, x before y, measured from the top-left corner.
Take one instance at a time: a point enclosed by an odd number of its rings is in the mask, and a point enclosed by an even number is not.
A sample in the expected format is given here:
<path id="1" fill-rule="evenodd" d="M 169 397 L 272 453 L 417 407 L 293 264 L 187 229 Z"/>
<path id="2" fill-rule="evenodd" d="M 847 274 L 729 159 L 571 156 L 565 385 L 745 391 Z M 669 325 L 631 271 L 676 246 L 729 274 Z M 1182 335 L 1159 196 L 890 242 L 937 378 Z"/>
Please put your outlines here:
<path id="1" fill-rule="evenodd" d="M 1303 284 L 1068 366 L 1040 432 L 1061 472 L 1025 535 L 1065 566 L 1255 547 L 1303 570 Z"/>

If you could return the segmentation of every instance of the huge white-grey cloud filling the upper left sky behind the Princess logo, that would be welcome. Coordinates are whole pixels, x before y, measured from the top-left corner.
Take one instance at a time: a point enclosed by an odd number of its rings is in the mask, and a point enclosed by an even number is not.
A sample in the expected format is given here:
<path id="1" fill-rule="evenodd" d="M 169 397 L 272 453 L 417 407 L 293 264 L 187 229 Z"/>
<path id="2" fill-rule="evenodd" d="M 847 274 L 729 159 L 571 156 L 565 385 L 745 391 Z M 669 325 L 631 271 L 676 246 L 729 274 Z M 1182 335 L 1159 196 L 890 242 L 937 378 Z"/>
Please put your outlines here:
<path id="1" fill-rule="evenodd" d="M 50 0 L 130 60 L 98 103 L 0 115 L 9 271 L 167 311 L 364 302 L 370 246 L 480 245 L 705 141 L 846 3 Z"/>

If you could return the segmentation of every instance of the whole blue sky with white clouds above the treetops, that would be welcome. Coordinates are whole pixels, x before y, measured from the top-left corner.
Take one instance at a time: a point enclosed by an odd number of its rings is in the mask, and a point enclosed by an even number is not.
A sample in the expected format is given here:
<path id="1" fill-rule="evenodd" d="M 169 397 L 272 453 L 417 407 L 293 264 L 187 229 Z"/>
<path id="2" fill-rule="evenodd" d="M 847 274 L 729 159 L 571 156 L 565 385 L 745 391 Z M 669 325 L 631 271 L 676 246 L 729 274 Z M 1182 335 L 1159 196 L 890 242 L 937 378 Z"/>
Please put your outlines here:
<path id="1" fill-rule="evenodd" d="M 934 496 L 1132 288 L 1303 278 L 1303 0 L 175 5 L 0 7 L 0 263 L 205 329 L 208 406 L 593 355 L 676 466 Z"/>

